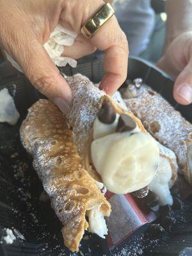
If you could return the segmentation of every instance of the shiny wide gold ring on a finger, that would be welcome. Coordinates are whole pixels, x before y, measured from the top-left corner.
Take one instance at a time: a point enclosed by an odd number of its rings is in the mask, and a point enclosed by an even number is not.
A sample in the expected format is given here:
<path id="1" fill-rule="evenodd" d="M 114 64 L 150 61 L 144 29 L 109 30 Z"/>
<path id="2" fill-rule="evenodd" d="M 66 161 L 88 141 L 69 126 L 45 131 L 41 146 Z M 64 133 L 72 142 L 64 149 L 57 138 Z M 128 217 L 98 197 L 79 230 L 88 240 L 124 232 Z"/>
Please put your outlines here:
<path id="1" fill-rule="evenodd" d="M 86 38 L 91 38 L 97 30 L 115 13 L 111 4 L 103 4 L 97 12 L 83 25 L 81 33 Z"/>

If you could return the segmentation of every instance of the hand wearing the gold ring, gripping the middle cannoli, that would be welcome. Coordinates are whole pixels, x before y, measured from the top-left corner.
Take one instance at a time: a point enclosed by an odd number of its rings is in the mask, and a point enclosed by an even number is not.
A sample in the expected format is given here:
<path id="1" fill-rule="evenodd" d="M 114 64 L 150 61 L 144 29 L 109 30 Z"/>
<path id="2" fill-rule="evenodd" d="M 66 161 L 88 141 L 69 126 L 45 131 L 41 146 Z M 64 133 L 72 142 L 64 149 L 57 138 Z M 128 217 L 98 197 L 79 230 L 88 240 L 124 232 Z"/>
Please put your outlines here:
<path id="1" fill-rule="evenodd" d="M 127 76 L 128 44 L 125 34 L 111 17 L 91 39 L 80 34 L 81 26 L 102 6 L 102 0 L 1 0 L 0 44 L 31 83 L 66 113 L 72 92 L 43 45 L 58 22 L 78 33 L 76 42 L 65 47 L 63 56 L 81 58 L 95 49 L 104 51 L 100 88 L 113 94 Z"/>

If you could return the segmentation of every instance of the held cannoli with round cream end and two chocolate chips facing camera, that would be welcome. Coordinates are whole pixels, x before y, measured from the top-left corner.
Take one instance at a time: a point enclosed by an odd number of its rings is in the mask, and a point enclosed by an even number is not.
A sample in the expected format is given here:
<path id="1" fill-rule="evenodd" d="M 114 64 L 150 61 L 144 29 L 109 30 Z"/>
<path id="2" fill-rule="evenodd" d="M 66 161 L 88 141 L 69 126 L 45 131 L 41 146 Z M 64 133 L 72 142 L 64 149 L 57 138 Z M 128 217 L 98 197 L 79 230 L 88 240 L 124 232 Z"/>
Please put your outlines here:
<path id="1" fill-rule="evenodd" d="M 66 78 L 73 93 L 67 115 L 86 170 L 113 193 L 129 193 L 152 182 L 159 147 L 124 102 L 100 91 L 87 77 Z M 97 171 L 97 172 L 96 172 Z"/>

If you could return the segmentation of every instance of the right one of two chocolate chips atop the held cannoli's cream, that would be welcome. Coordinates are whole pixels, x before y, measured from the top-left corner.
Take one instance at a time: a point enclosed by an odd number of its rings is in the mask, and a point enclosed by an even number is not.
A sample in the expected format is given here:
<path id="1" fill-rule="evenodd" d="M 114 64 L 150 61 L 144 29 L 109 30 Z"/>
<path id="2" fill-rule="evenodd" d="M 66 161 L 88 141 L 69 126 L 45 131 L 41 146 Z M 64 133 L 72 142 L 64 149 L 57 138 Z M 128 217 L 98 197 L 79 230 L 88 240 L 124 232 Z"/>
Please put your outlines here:
<path id="1" fill-rule="evenodd" d="M 136 128 L 136 123 L 132 120 L 131 117 L 122 114 L 118 120 L 118 124 L 116 126 L 116 132 L 126 132 L 132 131 Z"/>

